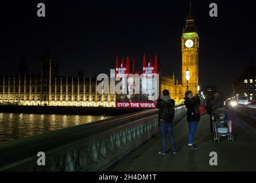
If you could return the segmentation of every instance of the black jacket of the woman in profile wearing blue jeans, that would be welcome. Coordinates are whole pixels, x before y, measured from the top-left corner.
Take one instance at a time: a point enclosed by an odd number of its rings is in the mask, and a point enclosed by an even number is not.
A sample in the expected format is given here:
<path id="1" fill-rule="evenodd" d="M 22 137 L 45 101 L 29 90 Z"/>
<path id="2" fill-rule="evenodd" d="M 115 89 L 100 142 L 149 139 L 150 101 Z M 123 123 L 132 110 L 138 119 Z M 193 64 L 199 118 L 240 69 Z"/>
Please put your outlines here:
<path id="1" fill-rule="evenodd" d="M 189 99 L 188 97 L 184 98 L 185 99 L 185 106 L 187 108 L 187 121 L 188 122 L 193 122 L 193 121 L 200 121 L 200 113 L 199 113 L 199 105 L 200 105 L 200 100 L 199 98 L 192 98 Z"/>

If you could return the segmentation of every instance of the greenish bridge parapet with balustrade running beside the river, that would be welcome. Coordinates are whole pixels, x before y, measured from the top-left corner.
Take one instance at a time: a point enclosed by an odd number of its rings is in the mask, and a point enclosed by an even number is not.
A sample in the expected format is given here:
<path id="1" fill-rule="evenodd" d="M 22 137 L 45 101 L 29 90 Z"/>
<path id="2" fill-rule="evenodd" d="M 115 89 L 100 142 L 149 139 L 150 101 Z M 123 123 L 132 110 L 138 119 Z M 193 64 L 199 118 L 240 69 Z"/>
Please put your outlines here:
<path id="1" fill-rule="evenodd" d="M 175 108 L 174 122 L 186 115 Z M 0 171 L 108 170 L 158 133 L 158 110 L 113 117 L 0 144 Z M 37 153 L 45 153 L 45 166 Z"/>

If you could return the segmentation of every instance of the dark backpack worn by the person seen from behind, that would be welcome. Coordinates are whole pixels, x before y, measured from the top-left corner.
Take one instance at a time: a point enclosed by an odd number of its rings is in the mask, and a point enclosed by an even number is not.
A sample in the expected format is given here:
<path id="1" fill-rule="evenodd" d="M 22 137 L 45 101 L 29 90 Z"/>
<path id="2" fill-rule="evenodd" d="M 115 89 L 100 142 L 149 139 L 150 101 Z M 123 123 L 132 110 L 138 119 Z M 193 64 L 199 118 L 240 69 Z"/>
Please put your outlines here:
<path id="1" fill-rule="evenodd" d="M 160 119 L 164 120 L 165 122 L 172 122 L 174 119 L 175 109 L 172 105 L 172 102 L 165 102 L 164 107 L 160 110 Z"/>

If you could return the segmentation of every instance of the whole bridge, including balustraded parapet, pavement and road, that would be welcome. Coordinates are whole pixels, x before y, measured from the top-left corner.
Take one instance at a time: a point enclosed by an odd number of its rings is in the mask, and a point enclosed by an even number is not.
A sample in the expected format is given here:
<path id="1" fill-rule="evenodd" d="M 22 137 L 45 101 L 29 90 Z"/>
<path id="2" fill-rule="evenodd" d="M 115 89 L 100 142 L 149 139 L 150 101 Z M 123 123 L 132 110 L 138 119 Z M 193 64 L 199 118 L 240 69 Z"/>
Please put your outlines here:
<path id="1" fill-rule="evenodd" d="M 157 109 L 73 126 L 0 143 L 0 171 L 255 171 L 255 109 L 236 109 L 234 142 L 212 142 L 210 118 L 201 116 L 195 136 L 198 150 L 187 145 L 185 106 L 176 106 L 174 138 L 177 153 L 160 150 Z M 249 122 L 248 122 L 249 121 Z M 168 146 L 169 147 L 169 141 Z M 38 165 L 45 153 L 45 166 Z M 218 164 L 211 165 L 211 153 Z"/>

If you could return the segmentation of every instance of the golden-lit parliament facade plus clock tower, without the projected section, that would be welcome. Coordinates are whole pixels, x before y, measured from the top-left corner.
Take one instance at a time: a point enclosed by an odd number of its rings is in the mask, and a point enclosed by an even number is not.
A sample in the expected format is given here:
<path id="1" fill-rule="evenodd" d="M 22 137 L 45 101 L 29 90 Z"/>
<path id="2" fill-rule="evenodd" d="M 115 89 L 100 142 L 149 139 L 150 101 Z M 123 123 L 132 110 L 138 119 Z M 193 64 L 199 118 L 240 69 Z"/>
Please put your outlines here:
<path id="1" fill-rule="evenodd" d="M 188 89 L 196 94 L 199 85 L 199 35 L 192 15 L 192 4 L 186 26 L 181 34 L 182 80 L 174 73 L 171 77 L 161 74 L 161 92 L 168 89 L 176 103 L 182 102 L 187 91 L 186 70 L 190 71 Z M 53 61 L 49 49 L 41 59 L 40 73 L 29 74 L 24 59 L 20 60 L 18 74 L 0 75 L 0 105 L 41 106 L 104 106 L 115 107 L 115 94 L 98 94 L 97 78 L 60 77 L 58 64 Z"/>

